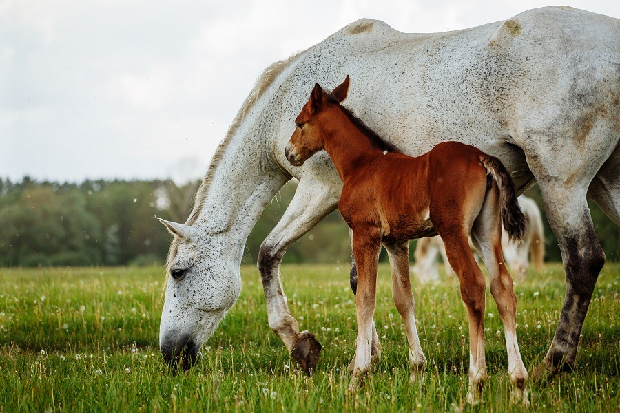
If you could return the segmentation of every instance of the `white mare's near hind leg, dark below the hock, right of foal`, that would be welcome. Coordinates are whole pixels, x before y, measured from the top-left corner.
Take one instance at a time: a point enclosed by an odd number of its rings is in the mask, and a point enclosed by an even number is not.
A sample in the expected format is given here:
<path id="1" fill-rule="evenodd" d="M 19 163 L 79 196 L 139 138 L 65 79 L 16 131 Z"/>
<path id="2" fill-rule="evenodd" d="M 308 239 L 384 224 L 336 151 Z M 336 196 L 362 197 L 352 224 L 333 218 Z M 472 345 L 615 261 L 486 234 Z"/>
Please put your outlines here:
<path id="1" fill-rule="evenodd" d="M 597 136 L 602 132 L 600 128 L 604 129 L 604 125 L 595 123 L 591 134 L 575 140 L 532 138 L 530 142 L 538 142 L 540 147 L 525 149 L 543 195 L 549 224 L 559 242 L 566 273 L 566 296 L 557 329 L 544 361 L 532 374 L 533 379 L 572 370 L 583 321 L 605 263 L 586 202 L 590 182 L 616 145 Z M 548 142 L 561 145 L 544 146 Z M 530 155 L 530 151 L 535 154 Z"/>

